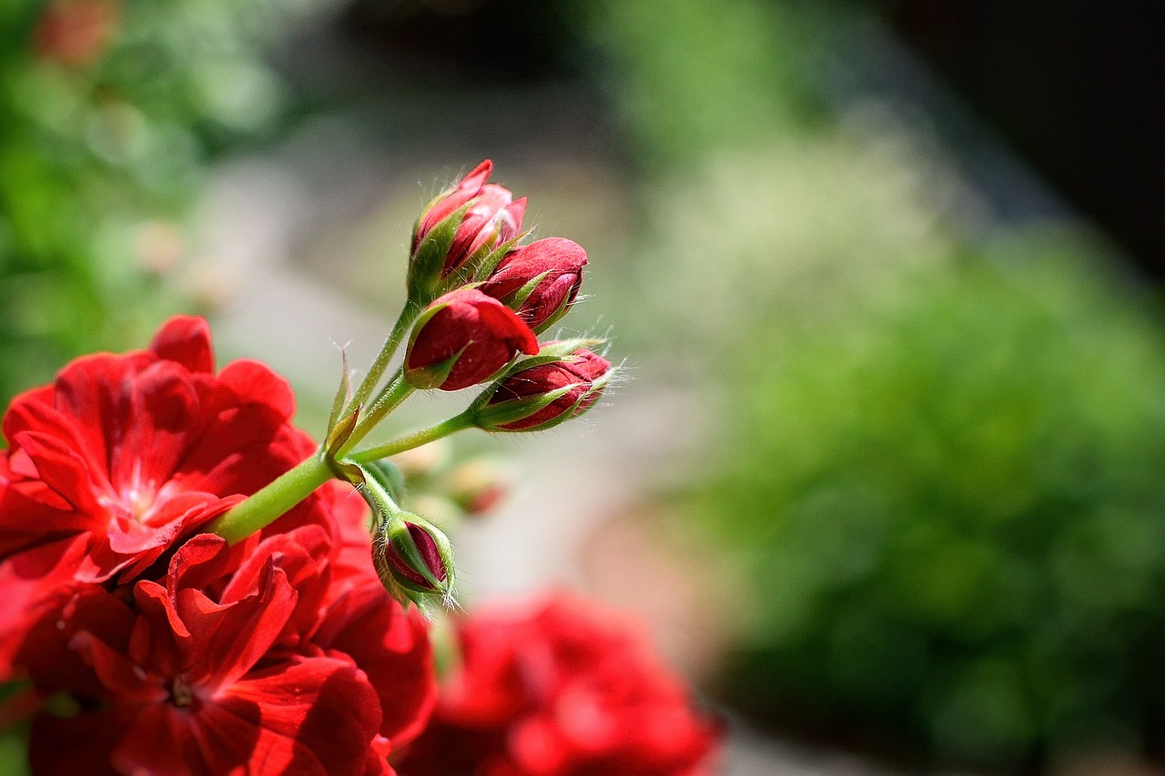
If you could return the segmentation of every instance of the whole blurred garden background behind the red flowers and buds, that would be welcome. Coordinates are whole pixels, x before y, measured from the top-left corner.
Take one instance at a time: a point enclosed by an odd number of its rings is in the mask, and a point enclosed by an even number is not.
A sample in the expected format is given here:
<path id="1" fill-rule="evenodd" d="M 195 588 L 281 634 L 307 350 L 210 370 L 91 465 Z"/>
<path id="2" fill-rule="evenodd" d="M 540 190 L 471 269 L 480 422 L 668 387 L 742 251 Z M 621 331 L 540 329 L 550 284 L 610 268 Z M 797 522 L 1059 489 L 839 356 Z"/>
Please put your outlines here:
<path id="1" fill-rule="evenodd" d="M 7 0 L 0 398 L 199 312 L 319 433 L 489 157 L 630 380 L 435 451 L 513 481 L 451 524 L 467 605 L 640 612 L 727 774 L 1162 773 L 1160 15 Z"/>

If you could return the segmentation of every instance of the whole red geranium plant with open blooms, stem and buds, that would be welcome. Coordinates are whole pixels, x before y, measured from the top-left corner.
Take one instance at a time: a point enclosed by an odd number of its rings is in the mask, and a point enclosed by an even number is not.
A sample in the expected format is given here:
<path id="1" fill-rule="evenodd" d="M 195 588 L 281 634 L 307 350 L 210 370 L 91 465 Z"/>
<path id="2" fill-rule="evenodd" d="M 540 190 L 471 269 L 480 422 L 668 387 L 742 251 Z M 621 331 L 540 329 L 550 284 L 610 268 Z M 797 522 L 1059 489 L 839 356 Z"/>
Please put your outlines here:
<path id="1" fill-rule="evenodd" d="M 467 429 L 551 428 L 617 372 L 602 340 L 539 343 L 574 303 L 586 253 L 560 238 L 521 245 L 525 199 L 489 174 L 487 161 L 422 212 L 404 309 L 358 385 L 345 360 L 322 444 L 291 424 L 291 389 L 264 365 L 216 369 L 200 318 L 170 319 L 144 351 L 78 359 L 12 402 L 0 722 L 27 724 L 33 773 L 706 764 L 714 726 L 617 621 L 578 606 L 532 625 L 467 621 L 451 682 L 482 687 L 468 703 L 493 704 L 488 729 L 457 711 L 464 690 L 433 715 L 432 616 L 454 602 L 456 564 L 445 534 L 400 506 L 409 479 L 389 458 Z M 454 417 L 363 444 L 412 393 L 474 386 Z M 530 672 L 551 655 L 552 676 Z M 471 733 L 451 738 L 454 724 Z M 478 739 L 493 749 L 473 760 Z"/>

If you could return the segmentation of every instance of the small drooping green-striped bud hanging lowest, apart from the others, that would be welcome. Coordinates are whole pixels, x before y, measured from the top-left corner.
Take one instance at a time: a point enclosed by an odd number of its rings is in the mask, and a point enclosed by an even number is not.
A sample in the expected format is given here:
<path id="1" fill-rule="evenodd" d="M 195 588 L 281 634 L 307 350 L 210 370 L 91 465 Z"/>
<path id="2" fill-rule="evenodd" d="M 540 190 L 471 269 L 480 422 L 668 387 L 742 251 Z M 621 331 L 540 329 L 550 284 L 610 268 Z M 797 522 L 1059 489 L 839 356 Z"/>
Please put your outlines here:
<path id="1" fill-rule="evenodd" d="M 453 586 L 453 557 L 449 538 L 417 517 L 394 517 L 373 543 L 376 573 L 389 591 L 394 586 L 415 593 L 447 595 Z"/>

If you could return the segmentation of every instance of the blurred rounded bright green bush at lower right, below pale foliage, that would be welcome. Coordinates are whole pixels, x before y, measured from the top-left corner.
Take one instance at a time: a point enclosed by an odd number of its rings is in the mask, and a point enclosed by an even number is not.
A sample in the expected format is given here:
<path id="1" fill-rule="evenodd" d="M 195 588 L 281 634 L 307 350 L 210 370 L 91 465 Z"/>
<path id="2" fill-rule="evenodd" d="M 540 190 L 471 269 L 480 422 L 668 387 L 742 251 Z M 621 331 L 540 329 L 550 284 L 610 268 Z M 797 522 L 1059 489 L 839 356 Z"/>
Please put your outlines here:
<path id="1" fill-rule="evenodd" d="M 718 361 L 689 508 L 740 571 L 744 707 L 979 763 L 1155 733 L 1165 330 L 1061 245 L 1001 253 Z"/>

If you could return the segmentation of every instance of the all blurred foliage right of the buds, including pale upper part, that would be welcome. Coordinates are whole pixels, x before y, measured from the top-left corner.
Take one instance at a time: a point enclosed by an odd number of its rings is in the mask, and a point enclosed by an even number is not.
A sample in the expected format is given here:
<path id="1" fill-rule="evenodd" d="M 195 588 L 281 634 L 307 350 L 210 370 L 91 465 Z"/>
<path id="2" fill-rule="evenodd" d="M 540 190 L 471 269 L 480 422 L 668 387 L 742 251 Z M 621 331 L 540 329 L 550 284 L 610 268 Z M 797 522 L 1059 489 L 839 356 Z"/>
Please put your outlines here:
<path id="1" fill-rule="evenodd" d="M 831 117 L 842 3 L 603 12 L 654 172 L 623 333 L 709 416 L 675 508 L 730 573 L 722 697 L 913 762 L 1152 750 L 1157 306 L 1079 230 L 994 231 L 925 125 Z"/>

